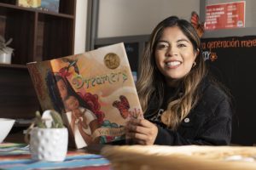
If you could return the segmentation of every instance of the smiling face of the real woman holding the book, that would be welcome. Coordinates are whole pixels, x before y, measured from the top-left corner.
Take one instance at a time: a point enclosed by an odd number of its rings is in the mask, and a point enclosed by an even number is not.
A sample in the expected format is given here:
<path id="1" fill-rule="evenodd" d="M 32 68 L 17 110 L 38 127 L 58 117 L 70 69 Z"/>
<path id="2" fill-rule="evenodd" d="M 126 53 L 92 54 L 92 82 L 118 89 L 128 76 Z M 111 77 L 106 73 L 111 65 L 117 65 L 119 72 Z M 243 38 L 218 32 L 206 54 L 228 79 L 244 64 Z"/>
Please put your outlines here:
<path id="1" fill-rule="evenodd" d="M 167 27 L 155 48 L 155 62 L 166 82 L 173 86 L 192 68 L 196 55 L 192 42 L 179 27 Z"/>

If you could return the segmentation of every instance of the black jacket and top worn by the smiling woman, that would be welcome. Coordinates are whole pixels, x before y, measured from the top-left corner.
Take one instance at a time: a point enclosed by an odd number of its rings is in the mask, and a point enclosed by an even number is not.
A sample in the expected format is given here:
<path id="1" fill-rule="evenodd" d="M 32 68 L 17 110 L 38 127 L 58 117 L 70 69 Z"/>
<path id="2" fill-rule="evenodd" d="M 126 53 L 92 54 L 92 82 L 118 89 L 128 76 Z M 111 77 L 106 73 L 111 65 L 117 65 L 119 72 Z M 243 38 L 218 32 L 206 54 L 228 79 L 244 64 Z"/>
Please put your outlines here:
<path id="1" fill-rule="evenodd" d="M 150 108 L 158 105 L 157 102 L 151 102 L 145 113 L 145 118 L 156 123 L 158 127 L 154 144 L 230 144 L 233 113 L 230 98 L 223 90 L 205 78 L 201 83 L 201 99 L 183 119 L 177 131 L 168 129 L 160 122 L 160 115 L 166 110 L 168 98 L 174 95 L 172 88 L 167 88 L 167 90 L 169 91 L 165 92 L 164 105 L 159 111 L 154 111 L 154 115 L 150 113 Z"/>

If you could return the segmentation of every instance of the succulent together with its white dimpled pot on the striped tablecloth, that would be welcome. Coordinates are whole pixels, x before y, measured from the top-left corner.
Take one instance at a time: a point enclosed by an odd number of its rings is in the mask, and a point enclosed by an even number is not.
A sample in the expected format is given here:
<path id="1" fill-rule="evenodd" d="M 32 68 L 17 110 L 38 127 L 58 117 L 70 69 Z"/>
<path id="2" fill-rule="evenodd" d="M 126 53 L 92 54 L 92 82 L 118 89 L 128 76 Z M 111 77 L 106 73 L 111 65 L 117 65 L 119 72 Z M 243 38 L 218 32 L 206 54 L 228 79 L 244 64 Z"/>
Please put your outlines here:
<path id="1" fill-rule="evenodd" d="M 36 112 L 35 121 L 28 130 L 33 160 L 64 161 L 67 155 L 68 132 L 58 112 Z"/>

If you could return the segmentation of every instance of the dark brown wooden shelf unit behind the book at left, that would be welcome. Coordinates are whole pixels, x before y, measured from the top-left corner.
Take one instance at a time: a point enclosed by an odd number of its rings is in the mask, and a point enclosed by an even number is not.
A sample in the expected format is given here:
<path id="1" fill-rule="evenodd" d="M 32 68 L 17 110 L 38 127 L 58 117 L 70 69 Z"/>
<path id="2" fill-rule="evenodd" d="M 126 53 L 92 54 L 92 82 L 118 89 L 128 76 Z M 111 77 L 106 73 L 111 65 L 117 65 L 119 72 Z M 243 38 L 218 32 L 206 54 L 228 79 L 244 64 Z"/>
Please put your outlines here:
<path id="1" fill-rule="evenodd" d="M 26 63 L 73 54 L 76 0 L 60 0 L 59 13 L 0 3 L 0 34 L 13 38 L 12 64 L 0 64 L 0 117 L 30 118 L 39 110 Z"/>

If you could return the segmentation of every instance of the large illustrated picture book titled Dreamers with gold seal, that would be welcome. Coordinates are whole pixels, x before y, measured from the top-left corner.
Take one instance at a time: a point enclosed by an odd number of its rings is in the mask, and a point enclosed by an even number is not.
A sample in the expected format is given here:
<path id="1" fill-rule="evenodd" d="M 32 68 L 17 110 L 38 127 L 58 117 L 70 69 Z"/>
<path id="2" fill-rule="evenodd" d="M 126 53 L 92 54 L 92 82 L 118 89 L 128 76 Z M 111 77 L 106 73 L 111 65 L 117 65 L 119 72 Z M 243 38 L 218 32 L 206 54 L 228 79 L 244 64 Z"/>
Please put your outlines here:
<path id="1" fill-rule="evenodd" d="M 27 64 L 42 110 L 58 111 L 77 148 L 125 139 L 143 118 L 124 43 Z"/>

